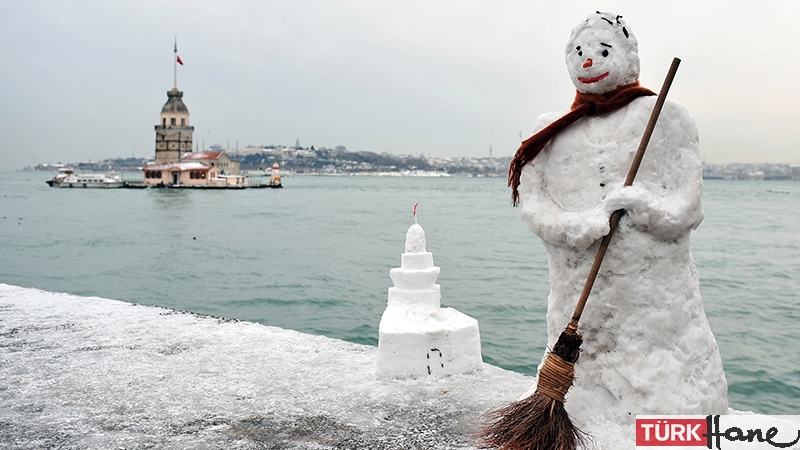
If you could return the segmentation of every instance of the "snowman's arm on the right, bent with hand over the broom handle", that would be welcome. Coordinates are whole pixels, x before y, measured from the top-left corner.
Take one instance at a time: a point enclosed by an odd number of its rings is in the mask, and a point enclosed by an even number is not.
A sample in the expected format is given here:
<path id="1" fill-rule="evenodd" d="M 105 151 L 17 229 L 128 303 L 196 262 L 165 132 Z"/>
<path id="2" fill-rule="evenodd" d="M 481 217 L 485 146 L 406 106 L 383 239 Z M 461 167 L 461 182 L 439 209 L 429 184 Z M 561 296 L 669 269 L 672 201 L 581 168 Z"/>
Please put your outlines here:
<path id="1" fill-rule="evenodd" d="M 603 201 L 606 213 L 625 209 L 623 222 L 671 240 L 697 228 L 703 221 L 703 166 L 697 127 L 686 110 L 674 102 L 664 109 L 648 149 L 652 173 L 633 186 L 619 186 Z"/>

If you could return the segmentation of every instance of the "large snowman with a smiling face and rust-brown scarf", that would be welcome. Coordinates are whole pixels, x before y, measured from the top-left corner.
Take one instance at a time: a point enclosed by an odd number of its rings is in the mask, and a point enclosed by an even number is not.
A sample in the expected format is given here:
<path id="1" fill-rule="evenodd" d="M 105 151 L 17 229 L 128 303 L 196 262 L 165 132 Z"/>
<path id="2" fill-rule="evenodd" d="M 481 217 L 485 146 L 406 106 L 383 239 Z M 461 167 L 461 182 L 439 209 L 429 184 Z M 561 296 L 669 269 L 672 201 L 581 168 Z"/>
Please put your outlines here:
<path id="1" fill-rule="evenodd" d="M 703 220 L 698 134 L 686 109 L 667 100 L 636 181 L 623 187 L 656 101 L 638 85 L 636 37 L 621 16 L 591 14 L 572 30 L 566 63 L 578 91 L 572 111 L 595 103 L 567 125 L 569 112 L 539 117 L 541 148 L 523 143 L 509 183 L 547 250 L 549 348 L 572 317 L 611 213 L 625 211 L 581 318 L 565 405 L 590 433 L 623 429 L 627 436 L 602 448 L 627 448 L 636 415 L 728 410 L 689 248 Z"/>

